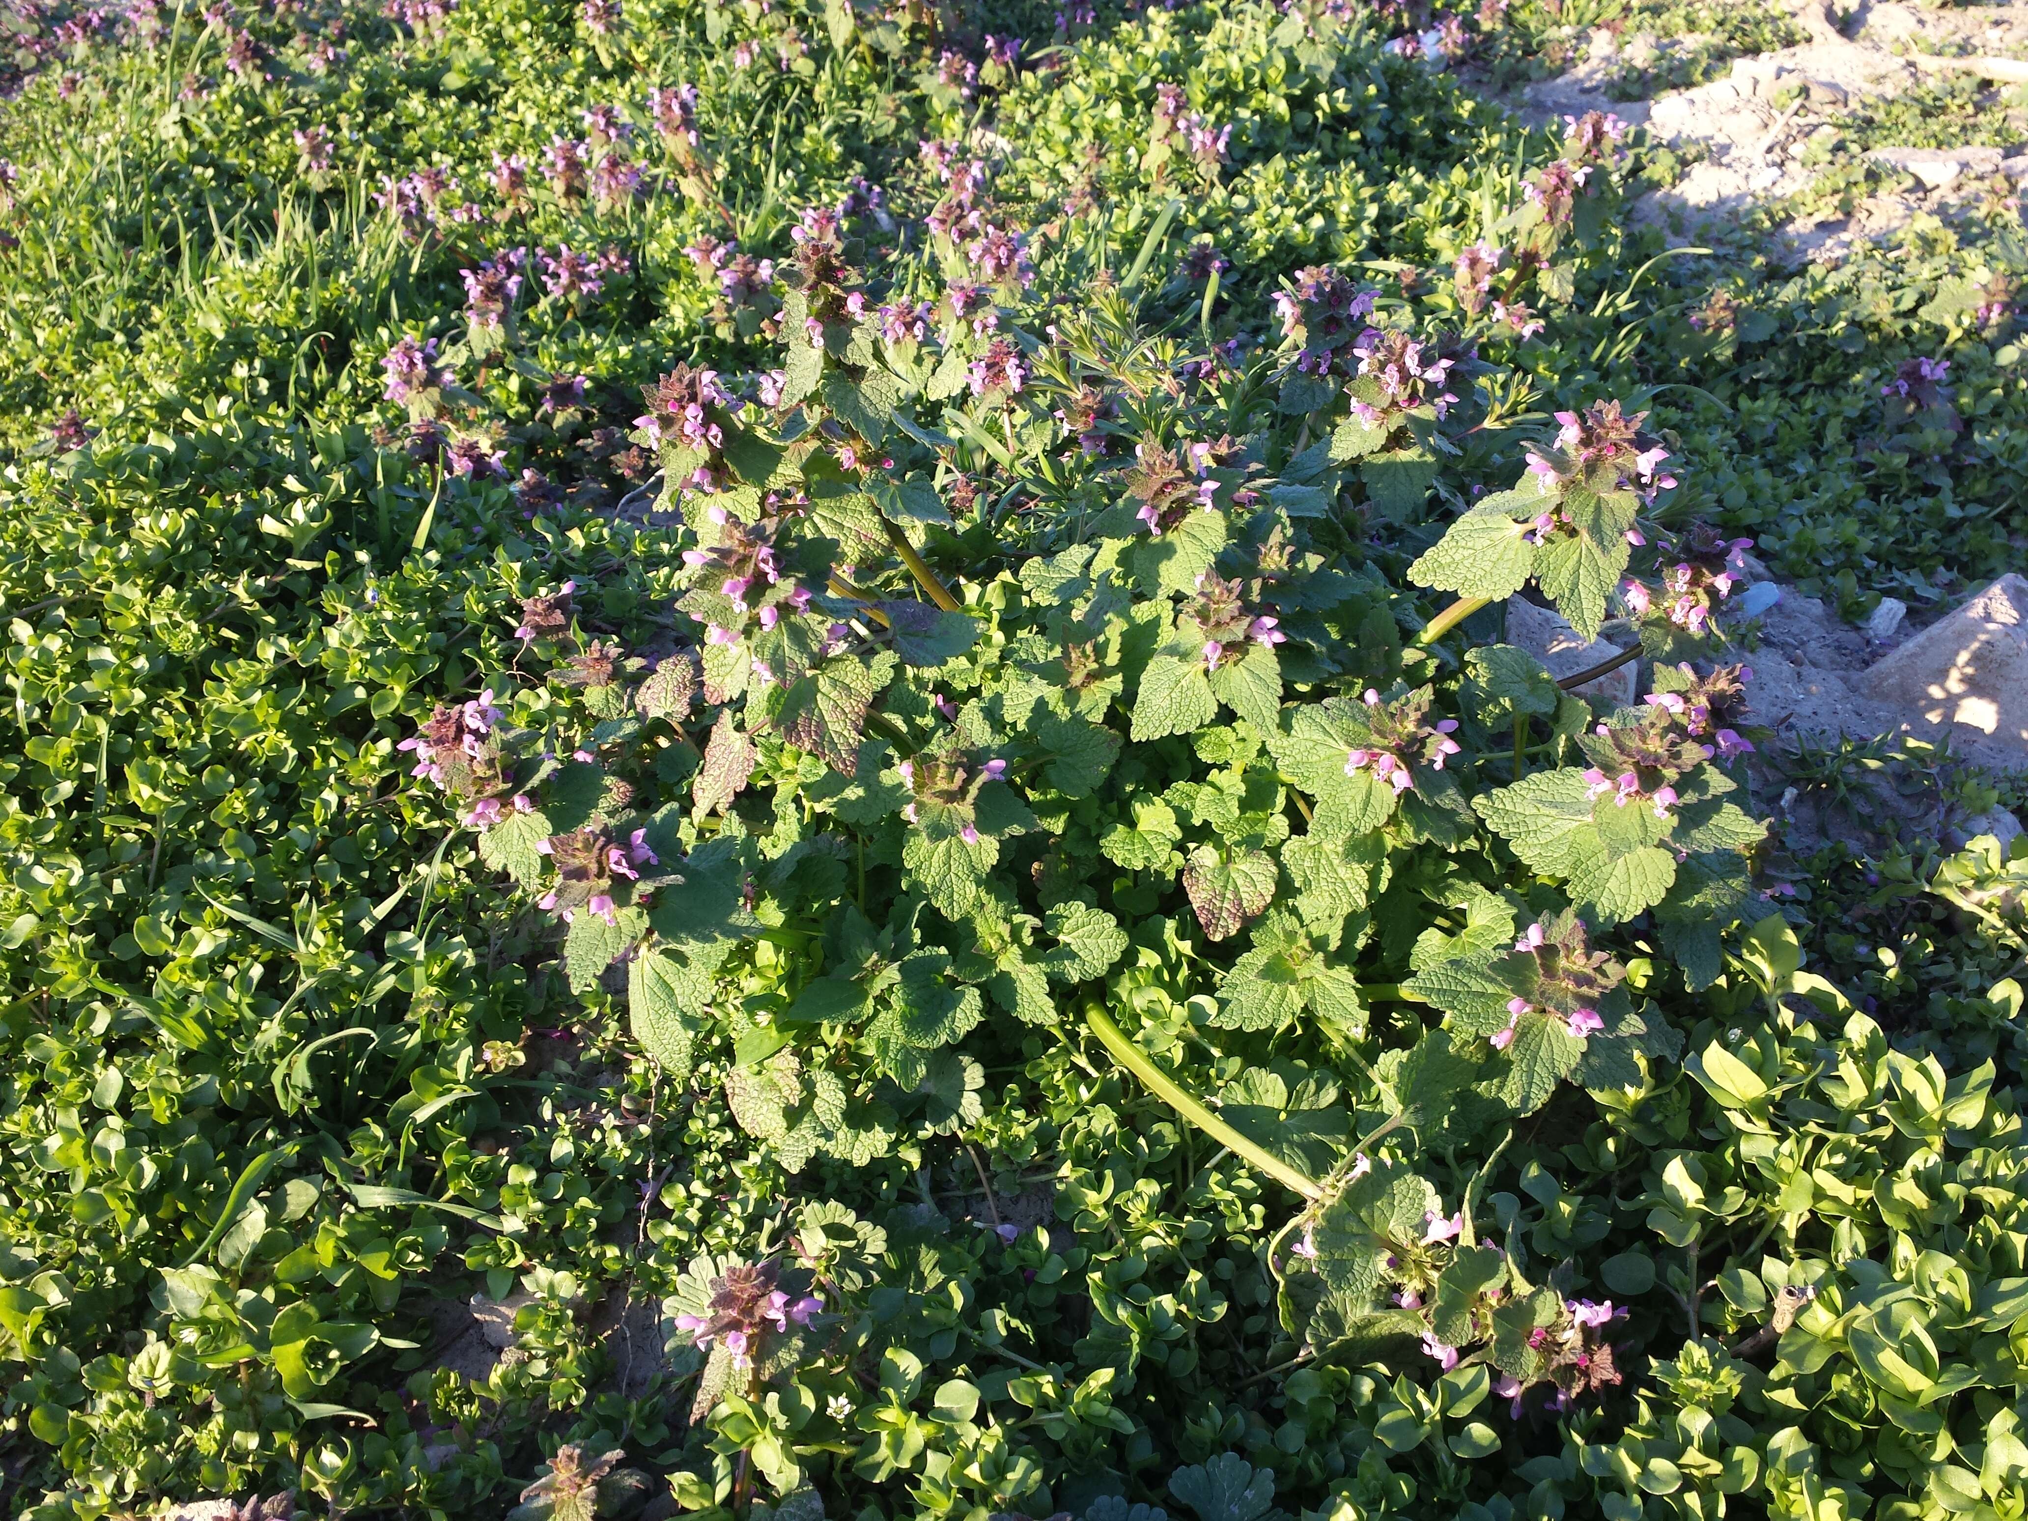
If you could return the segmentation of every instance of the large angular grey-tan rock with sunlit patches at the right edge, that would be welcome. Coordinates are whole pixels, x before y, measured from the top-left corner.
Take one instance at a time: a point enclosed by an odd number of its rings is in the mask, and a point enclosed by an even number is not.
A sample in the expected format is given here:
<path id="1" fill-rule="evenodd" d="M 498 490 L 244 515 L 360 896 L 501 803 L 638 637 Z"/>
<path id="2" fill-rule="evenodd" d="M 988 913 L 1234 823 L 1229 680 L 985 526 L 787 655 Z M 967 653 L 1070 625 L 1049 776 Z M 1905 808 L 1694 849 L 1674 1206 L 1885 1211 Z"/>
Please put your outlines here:
<path id="1" fill-rule="evenodd" d="M 1953 726 L 2028 758 L 2028 580 L 2006 574 L 1862 677 L 1914 732 Z"/>

